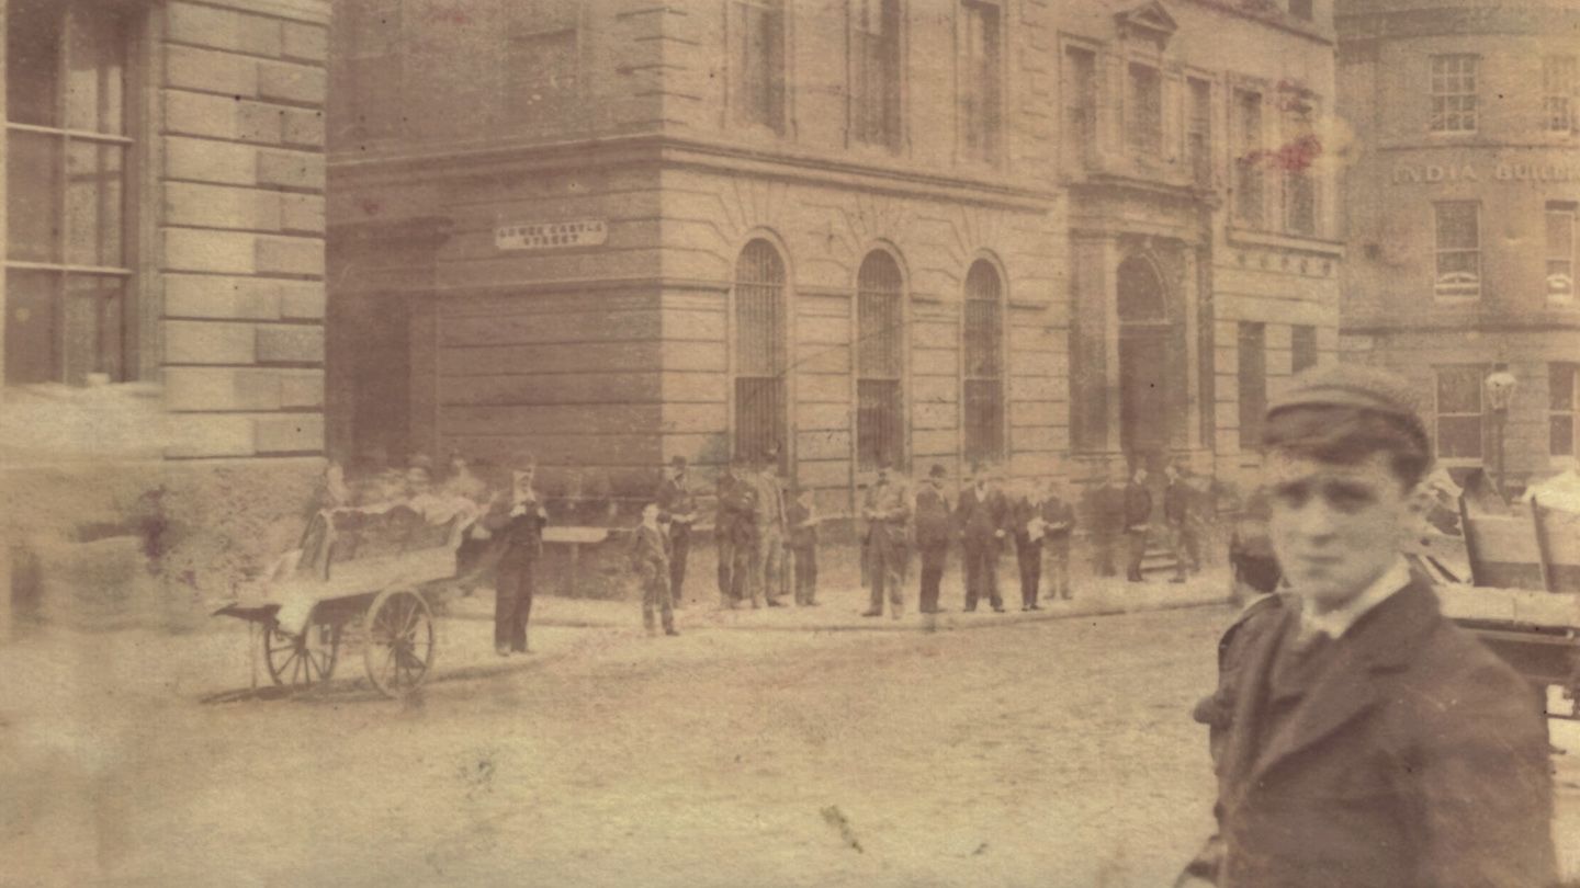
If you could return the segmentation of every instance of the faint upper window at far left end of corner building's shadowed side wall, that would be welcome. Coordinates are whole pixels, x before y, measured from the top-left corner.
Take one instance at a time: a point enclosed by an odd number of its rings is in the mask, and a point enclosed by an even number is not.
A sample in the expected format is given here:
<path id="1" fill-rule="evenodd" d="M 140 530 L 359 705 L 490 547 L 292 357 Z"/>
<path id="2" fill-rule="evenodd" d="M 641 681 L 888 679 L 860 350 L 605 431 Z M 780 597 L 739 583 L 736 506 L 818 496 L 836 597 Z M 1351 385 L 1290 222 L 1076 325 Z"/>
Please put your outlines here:
<path id="1" fill-rule="evenodd" d="M 338 35 L 335 128 L 349 141 L 401 131 L 401 0 L 354 0 L 337 5 Z"/>

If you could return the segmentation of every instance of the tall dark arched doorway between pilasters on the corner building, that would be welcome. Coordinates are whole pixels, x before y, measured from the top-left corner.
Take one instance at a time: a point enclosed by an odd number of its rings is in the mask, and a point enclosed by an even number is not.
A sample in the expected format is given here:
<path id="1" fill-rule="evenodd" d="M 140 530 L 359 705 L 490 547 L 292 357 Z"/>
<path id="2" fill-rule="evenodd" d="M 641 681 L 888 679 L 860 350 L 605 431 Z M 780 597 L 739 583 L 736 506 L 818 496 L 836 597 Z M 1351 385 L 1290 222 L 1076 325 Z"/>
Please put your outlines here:
<path id="1" fill-rule="evenodd" d="M 1172 322 L 1158 269 L 1142 256 L 1119 264 L 1119 442 L 1149 458 L 1168 449 Z"/>

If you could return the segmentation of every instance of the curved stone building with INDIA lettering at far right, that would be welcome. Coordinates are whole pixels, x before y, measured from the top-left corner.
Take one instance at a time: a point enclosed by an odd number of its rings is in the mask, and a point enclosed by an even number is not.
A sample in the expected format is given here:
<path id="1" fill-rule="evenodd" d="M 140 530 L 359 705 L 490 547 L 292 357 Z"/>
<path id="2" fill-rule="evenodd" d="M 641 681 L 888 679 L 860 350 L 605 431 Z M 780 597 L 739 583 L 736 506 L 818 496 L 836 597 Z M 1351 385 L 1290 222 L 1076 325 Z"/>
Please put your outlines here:
<path id="1" fill-rule="evenodd" d="M 1346 174 L 1343 346 L 1414 379 L 1439 460 L 1507 480 L 1574 465 L 1580 9 L 1531 3 L 1341 2 Z M 1485 390 L 1517 387 L 1504 417 Z M 1499 425 L 1503 428 L 1499 430 Z"/>

